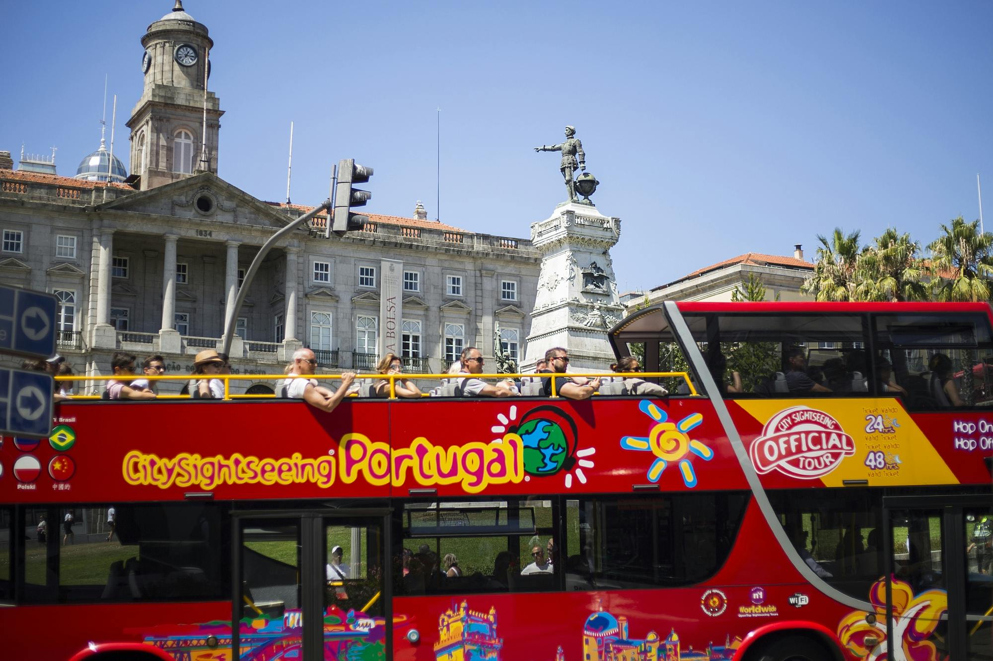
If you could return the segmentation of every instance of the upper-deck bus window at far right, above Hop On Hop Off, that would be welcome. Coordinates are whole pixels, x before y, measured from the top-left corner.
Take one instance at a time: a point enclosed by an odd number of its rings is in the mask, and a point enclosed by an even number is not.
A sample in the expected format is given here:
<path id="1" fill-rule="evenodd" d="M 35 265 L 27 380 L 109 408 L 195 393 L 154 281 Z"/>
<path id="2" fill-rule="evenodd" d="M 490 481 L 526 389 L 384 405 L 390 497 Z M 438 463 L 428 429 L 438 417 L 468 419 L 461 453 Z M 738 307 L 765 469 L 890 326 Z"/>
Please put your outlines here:
<path id="1" fill-rule="evenodd" d="M 984 315 L 877 315 L 876 379 L 911 410 L 993 406 L 993 339 Z"/>

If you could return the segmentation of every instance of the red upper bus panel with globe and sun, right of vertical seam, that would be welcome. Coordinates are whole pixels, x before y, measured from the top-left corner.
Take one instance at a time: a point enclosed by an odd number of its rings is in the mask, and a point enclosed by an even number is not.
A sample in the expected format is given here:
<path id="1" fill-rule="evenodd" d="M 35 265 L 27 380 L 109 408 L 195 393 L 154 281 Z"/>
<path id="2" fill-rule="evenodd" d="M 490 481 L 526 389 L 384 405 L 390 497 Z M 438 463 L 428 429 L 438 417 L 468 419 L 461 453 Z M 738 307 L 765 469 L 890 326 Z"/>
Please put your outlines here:
<path id="1" fill-rule="evenodd" d="M 398 497 L 422 488 L 462 495 L 747 487 L 713 406 L 702 398 L 393 407 Z"/>

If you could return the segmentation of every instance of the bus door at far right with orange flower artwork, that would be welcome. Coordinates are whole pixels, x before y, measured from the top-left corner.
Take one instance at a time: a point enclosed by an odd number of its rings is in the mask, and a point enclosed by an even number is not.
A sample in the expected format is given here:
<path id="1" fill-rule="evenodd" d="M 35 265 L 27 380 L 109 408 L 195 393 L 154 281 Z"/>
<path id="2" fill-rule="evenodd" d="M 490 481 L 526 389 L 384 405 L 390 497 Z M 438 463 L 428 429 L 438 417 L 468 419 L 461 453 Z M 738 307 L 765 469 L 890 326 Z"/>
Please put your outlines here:
<path id="1" fill-rule="evenodd" d="M 884 497 L 891 649 L 917 658 L 930 643 L 937 658 L 993 659 L 991 505 L 989 496 Z"/>

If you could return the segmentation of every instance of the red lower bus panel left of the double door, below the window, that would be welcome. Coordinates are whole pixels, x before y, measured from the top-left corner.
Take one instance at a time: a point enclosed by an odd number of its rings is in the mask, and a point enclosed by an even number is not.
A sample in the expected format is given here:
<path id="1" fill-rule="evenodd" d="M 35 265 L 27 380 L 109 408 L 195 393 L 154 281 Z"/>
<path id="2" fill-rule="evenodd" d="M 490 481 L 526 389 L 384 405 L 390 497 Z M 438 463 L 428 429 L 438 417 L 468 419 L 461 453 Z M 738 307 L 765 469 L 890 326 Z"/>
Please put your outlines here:
<path id="1" fill-rule="evenodd" d="M 64 660 L 90 642 L 130 642 L 222 661 L 230 658 L 222 654 L 230 647 L 230 618 L 229 601 L 20 605 L 0 608 L 0 648 L 5 659 Z M 218 641 L 213 650 L 207 645 L 211 635 Z"/>

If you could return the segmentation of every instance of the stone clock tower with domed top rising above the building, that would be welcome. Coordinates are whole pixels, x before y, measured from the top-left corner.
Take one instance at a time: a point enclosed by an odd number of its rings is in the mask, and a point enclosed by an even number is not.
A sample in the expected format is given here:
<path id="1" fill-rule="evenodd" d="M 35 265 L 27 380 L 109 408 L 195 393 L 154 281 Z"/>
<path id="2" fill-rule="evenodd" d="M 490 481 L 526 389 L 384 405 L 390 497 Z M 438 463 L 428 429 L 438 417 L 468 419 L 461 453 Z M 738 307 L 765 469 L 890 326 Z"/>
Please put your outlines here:
<path id="1" fill-rule="evenodd" d="M 127 121 L 132 176 L 147 191 L 195 173 L 216 174 L 223 111 L 216 95 L 205 91 L 213 48 L 207 26 L 176 0 L 173 11 L 148 26 L 141 45 L 145 86 Z"/>

